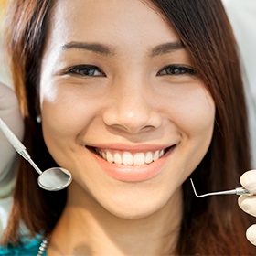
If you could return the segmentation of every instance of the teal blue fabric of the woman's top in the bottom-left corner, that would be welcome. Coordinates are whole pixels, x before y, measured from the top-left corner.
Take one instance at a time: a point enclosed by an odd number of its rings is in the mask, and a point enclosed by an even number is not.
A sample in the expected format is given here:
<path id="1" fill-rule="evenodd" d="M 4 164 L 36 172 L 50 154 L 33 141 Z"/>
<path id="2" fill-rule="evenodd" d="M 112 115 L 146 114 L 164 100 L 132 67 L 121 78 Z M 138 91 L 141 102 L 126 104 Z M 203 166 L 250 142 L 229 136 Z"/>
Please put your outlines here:
<path id="1" fill-rule="evenodd" d="M 39 250 L 40 244 L 42 242 L 42 237 L 37 236 L 36 239 L 33 240 L 22 240 L 22 244 L 19 246 L 8 246 L 1 247 L 0 246 L 0 255 L 5 256 L 37 256 L 37 252 Z M 47 256 L 47 252 L 44 251 L 43 256 Z"/>

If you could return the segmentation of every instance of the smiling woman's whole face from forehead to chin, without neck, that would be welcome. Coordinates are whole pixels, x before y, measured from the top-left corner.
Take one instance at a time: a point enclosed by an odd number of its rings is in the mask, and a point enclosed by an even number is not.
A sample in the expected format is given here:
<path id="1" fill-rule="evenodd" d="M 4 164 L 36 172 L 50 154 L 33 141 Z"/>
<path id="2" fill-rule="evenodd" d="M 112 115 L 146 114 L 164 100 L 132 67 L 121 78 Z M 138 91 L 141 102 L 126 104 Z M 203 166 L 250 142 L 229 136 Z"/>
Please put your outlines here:
<path id="1" fill-rule="evenodd" d="M 58 1 L 49 31 L 42 126 L 50 154 L 72 173 L 73 199 L 90 195 L 129 219 L 175 201 L 215 118 L 175 31 L 137 0 Z"/>

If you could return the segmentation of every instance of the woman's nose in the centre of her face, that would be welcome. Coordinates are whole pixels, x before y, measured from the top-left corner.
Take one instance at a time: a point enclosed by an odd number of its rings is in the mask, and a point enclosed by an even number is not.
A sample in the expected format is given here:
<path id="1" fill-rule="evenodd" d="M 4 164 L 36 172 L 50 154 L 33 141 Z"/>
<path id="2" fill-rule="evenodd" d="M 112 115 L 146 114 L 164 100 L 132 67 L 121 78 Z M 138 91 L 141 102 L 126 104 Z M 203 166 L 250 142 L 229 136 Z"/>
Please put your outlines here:
<path id="1" fill-rule="evenodd" d="M 112 100 L 103 112 L 103 122 L 126 133 L 151 131 L 161 125 L 160 112 L 153 92 L 136 84 L 117 85 L 111 92 Z"/>

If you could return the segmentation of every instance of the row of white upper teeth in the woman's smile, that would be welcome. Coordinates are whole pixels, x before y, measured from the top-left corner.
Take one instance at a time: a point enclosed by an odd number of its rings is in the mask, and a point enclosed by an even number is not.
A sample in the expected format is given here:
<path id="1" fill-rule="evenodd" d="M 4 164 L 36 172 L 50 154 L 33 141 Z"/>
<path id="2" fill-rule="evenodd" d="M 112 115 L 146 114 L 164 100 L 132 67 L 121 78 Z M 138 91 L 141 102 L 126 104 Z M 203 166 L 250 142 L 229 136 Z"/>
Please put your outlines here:
<path id="1" fill-rule="evenodd" d="M 96 149 L 96 152 L 101 155 L 109 163 L 119 164 L 119 165 L 144 165 L 150 164 L 153 161 L 159 159 L 165 154 L 165 150 L 156 150 L 155 152 L 139 152 L 130 153 L 125 151 L 123 153 L 115 152 L 112 153 L 109 150 L 102 151 L 101 149 Z"/>

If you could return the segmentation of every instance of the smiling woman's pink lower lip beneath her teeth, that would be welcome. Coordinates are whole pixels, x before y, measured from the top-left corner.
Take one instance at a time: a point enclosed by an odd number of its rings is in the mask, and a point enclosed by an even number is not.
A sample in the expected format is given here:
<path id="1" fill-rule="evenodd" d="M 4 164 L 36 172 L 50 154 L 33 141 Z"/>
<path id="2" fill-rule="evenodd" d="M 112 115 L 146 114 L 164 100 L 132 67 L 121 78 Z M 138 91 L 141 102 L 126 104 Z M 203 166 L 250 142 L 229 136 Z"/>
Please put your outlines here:
<path id="1" fill-rule="evenodd" d="M 151 179 L 157 176 L 161 170 L 164 169 L 167 156 L 170 155 L 174 147 L 171 147 L 165 155 L 160 157 L 157 161 L 151 164 L 145 165 L 117 165 L 111 164 L 100 155 L 94 153 L 96 161 L 101 165 L 101 169 L 114 179 L 124 181 L 124 182 L 140 182 Z"/>

